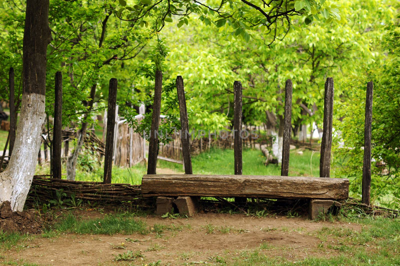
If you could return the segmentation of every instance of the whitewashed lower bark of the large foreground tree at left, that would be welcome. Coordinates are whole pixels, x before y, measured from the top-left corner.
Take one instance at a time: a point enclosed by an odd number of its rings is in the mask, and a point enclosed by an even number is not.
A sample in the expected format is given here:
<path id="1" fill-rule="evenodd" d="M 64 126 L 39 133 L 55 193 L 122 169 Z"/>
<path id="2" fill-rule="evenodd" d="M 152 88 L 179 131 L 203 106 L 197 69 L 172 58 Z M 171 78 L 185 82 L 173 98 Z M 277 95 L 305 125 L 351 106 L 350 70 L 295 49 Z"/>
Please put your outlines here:
<path id="1" fill-rule="evenodd" d="M 22 94 L 21 113 L 14 149 L 7 168 L 0 173 L 0 205 L 11 202 L 11 208 L 22 211 L 38 162 L 40 134 L 46 114 L 45 96 Z"/>

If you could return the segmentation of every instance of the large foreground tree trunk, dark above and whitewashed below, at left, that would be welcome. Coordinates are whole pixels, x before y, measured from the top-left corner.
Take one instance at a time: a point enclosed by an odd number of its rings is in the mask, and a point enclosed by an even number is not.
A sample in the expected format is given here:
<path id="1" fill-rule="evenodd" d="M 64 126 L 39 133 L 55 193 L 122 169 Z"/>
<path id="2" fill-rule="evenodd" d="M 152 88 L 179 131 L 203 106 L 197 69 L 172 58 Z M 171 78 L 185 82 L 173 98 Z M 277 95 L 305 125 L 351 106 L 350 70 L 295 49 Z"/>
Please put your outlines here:
<path id="1" fill-rule="evenodd" d="M 9 201 L 22 211 L 32 183 L 46 117 L 46 50 L 51 40 L 49 0 L 26 2 L 22 58 L 22 101 L 14 149 L 6 170 L 0 173 L 0 205 Z"/>

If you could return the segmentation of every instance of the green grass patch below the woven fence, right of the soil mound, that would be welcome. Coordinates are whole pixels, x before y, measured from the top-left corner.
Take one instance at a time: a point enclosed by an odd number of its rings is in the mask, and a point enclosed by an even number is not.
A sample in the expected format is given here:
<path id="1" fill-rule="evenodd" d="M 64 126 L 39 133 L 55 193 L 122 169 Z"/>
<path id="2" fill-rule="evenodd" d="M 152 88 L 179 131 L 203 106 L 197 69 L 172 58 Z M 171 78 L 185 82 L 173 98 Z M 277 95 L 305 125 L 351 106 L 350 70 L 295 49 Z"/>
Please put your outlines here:
<path id="1" fill-rule="evenodd" d="M 76 234 L 148 234 L 148 226 L 134 213 L 105 214 L 104 218 L 79 219 L 68 212 L 57 218 L 56 222 L 43 233 L 44 237 L 54 237 L 61 232 Z"/>

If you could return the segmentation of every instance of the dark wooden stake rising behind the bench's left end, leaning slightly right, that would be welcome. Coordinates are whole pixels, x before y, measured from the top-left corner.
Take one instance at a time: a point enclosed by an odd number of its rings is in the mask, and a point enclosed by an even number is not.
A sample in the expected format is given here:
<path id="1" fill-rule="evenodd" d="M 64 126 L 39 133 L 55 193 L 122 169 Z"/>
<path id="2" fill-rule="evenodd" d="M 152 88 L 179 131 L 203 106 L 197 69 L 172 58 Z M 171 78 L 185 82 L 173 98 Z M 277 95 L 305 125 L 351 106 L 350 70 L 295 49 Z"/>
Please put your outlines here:
<path id="1" fill-rule="evenodd" d="M 158 155 L 158 125 L 160 123 L 162 92 L 162 72 L 156 71 L 156 84 L 154 85 L 153 116 L 151 121 L 147 174 L 155 175 Z"/>

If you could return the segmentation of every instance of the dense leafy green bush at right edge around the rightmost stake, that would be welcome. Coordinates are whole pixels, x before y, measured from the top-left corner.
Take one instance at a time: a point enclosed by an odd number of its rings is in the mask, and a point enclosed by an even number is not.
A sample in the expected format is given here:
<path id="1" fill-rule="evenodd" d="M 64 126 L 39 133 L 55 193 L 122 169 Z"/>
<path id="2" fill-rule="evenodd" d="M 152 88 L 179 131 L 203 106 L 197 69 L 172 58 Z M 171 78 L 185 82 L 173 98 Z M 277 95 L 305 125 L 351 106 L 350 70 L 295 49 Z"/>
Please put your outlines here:
<path id="1" fill-rule="evenodd" d="M 364 114 L 366 83 L 374 82 L 372 108 L 372 182 L 371 197 L 375 203 L 391 208 L 400 206 L 399 143 L 400 112 L 398 99 L 398 64 L 400 46 L 399 27 L 390 24 L 387 34 L 382 36 L 382 46 L 388 55 L 382 55 L 374 65 L 366 69 L 366 77 L 350 77 L 352 90 L 347 92 L 348 100 L 339 103 L 338 113 L 342 123 L 334 126 L 341 133 L 336 135 L 335 163 L 340 165 L 336 175 L 352 180 L 350 189 L 356 197 L 361 195 L 362 161 L 364 156 Z M 342 145 L 339 145 L 342 143 Z"/>

